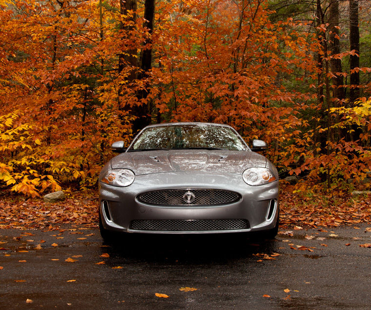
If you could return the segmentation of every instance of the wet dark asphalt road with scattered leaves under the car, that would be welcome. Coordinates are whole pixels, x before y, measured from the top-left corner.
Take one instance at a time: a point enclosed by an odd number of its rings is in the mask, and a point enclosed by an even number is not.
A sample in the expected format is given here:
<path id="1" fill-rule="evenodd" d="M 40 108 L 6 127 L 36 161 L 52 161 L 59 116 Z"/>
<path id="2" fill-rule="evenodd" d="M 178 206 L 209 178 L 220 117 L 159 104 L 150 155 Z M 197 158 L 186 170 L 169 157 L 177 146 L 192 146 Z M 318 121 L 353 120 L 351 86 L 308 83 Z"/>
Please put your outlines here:
<path id="1" fill-rule="evenodd" d="M 358 227 L 110 247 L 98 229 L 3 229 L 0 309 L 370 309 L 371 232 Z"/>

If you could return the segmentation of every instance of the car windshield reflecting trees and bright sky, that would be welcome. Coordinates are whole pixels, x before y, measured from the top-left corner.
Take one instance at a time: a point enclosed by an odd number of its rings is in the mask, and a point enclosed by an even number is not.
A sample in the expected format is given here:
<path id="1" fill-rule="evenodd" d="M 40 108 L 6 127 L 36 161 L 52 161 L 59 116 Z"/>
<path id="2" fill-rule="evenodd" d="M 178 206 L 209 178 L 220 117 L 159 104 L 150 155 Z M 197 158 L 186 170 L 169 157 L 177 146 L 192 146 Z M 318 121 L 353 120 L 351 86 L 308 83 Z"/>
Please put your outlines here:
<path id="1" fill-rule="evenodd" d="M 144 129 L 128 151 L 198 148 L 247 150 L 243 140 L 229 127 L 176 124 Z"/>

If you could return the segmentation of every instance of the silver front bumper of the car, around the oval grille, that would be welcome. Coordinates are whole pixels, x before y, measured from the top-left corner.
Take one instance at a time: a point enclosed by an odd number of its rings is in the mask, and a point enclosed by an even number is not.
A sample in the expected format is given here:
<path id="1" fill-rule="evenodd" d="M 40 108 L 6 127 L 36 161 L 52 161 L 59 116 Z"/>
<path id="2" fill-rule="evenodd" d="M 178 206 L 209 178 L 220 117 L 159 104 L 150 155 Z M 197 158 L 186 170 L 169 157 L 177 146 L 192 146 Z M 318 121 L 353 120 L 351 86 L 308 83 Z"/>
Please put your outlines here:
<path id="1" fill-rule="evenodd" d="M 104 229 L 140 233 L 227 233 L 272 229 L 278 215 L 278 181 L 263 186 L 248 186 L 241 175 L 221 175 L 192 172 L 166 172 L 136 176 L 127 187 L 99 184 L 100 212 Z M 239 193 L 241 199 L 227 205 L 213 206 L 153 206 L 137 199 L 137 196 L 152 190 L 204 188 L 223 189 Z M 132 229 L 132 223 L 140 221 L 181 220 L 245 220 L 242 229 L 201 230 L 141 230 Z M 134 222 L 133 222 L 134 221 Z M 182 222 L 182 221 L 181 221 Z M 180 226 L 183 227 L 183 226 Z M 156 229 L 156 228 L 155 228 Z"/>

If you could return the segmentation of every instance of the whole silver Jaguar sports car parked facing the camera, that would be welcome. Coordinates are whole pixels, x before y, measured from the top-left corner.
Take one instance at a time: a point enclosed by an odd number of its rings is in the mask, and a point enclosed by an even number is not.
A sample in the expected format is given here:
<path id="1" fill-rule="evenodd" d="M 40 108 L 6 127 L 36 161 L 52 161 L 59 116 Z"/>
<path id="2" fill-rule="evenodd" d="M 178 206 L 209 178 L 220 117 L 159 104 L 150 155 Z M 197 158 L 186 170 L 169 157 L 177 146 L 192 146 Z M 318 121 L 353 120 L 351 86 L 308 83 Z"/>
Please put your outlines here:
<path id="1" fill-rule="evenodd" d="M 145 127 L 99 176 L 99 227 L 115 232 L 204 234 L 278 231 L 278 173 L 230 126 L 169 123 Z"/>

